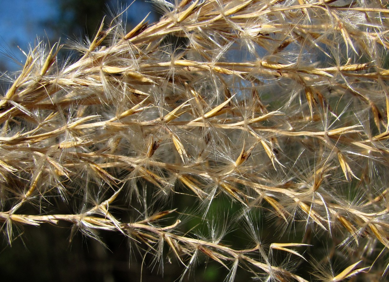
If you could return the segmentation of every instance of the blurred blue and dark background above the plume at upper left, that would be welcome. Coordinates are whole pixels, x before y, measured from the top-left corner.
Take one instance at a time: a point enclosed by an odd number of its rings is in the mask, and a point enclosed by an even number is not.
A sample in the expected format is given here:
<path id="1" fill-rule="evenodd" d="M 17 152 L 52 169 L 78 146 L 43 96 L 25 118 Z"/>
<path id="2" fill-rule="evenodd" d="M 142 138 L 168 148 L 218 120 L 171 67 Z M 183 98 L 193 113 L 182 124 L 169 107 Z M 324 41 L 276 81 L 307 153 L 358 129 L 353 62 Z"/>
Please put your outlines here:
<path id="1" fill-rule="evenodd" d="M 54 44 L 93 38 L 104 15 L 108 19 L 133 0 L 2 0 L 0 1 L 0 71 L 20 70 L 37 38 Z M 149 1 L 136 0 L 123 14 L 127 28 L 137 25 L 149 13 L 158 20 L 158 9 Z"/>

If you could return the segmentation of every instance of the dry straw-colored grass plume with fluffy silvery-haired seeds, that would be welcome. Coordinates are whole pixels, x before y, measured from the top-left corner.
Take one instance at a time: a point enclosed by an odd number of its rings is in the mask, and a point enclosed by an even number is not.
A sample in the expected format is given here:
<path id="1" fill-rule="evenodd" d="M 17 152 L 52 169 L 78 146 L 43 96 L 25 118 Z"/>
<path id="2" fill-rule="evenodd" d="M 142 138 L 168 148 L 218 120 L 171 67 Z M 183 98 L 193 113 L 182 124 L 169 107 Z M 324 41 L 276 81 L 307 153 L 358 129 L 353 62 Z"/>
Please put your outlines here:
<path id="1" fill-rule="evenodd" d="M 122 233 L 161 261 L 165 246 L 182 277 L 203 257 L 227 281 L 239 267 L 261 281 L 384 280 L 387 2 L 158 5 L 157 23 L 130 31 L 105 19 L 74 44 L 76 61 L 58 62 L 59 44 L 26 53 L 0 102 L 4 238 L 67 222 L 97 240 Z M 219 198 L 233 220 L 209 218 Z M 118 202 L 143 212 L 123 220 Z M 183 224 L 190 215 L 209 234 Z M 237 229 L 243 243 L 224 240 Z"/>

